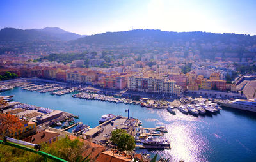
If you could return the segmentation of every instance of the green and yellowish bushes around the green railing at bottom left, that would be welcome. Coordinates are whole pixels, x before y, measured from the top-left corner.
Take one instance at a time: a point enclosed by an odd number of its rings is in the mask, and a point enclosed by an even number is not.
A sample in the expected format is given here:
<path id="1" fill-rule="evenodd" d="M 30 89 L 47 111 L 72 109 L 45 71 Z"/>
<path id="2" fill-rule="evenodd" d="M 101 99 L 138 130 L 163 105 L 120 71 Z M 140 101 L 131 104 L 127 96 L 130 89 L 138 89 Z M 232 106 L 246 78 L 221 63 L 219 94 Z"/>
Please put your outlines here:
<path id="1" fill-rule="evenodd" d="M 70 140 L 67 136 L 58 140 L 54 144 L 42 144 L 41 151 L 47 152 L 66 161 L 90 161 L 88 158 L 83 158 L 82 153 L 88 149 L 88 145 L 80 142 L 78 139 Z M 0 147 L 1 161 L 44 161 L 43 156 L 38 154 L 1 145 Z M 52 161 L 47 159 L 47 161 Z"/>

